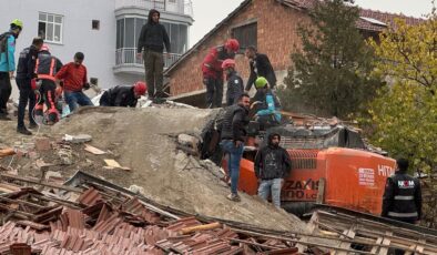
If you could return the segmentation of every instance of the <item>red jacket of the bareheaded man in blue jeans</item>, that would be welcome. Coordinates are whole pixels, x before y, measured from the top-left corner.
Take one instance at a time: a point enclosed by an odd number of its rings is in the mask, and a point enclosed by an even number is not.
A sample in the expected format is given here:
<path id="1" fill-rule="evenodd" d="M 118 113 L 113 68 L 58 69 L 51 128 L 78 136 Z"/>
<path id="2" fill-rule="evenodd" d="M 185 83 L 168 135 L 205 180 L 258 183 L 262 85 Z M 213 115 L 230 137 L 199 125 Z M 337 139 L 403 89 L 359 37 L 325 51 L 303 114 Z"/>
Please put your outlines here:
<path id="1" fill-rule="evenodd" d="M 83 64 L 75 65 L 74 62 L 70 62 L 62 67 L 55 78 L 63 80 L 65 91 L 82 91 L 83 85 L 88 82 L 87 68 Z"/>

